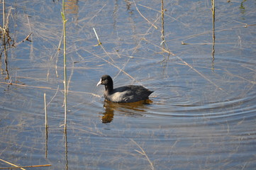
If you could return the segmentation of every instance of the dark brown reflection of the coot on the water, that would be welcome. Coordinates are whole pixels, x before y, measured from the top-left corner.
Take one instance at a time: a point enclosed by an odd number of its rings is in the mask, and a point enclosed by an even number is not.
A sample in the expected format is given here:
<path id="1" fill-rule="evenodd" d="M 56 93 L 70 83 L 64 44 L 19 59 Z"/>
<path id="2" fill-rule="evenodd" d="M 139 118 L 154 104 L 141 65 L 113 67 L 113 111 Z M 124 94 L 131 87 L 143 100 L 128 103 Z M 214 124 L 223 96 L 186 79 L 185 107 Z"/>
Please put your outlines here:
<path id="1" fill-rule="evenodd" d="M 113 103 L 111 101 L 104 101 L 105 112 L 101 116 L 101 122 L 111 123 L 114 112 L 130 116 L 143 116 L 143 112 L 146 112 L 145 108 L 147 108 L 147 105 L 150 103 L 152 103 L 150 99 L 133 103 Z"/>

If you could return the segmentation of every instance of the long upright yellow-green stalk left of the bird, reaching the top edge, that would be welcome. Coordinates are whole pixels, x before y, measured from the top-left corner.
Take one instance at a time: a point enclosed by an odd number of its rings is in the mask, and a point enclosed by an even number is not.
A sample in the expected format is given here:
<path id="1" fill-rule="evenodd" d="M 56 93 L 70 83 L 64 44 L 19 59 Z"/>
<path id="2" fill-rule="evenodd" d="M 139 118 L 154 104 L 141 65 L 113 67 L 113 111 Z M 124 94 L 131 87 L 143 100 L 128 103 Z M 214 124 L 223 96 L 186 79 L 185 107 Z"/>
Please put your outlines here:
<path id="1" fill-rule="evenodd" d="M 64 129 L 67 130 L 67 69 L 66 69 L 66 18 L 65 0 L 62 0 L 62 21 L 63 21 L 63 65 L 64 65 Z"/>

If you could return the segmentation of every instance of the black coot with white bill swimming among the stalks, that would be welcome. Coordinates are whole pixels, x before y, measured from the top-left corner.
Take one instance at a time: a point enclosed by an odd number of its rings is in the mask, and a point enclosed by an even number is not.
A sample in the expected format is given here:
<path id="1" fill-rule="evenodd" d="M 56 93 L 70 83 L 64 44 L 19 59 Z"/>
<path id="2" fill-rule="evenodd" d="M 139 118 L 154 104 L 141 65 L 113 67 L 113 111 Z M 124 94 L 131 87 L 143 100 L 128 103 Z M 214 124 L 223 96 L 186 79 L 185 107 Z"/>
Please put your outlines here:
<path id="1" fill-rule="evenodd" d="M 143 101 L 148 99 L 148 96 L 153 93 L 143 86 L 121 86 L 113 89 L 113 80 L 108 75 L 103 75 L 99 80 L 99 84 L 105 85 L 104 97 L 107 101 L 118 103 L 130 103 L 136 101 Z"/>

